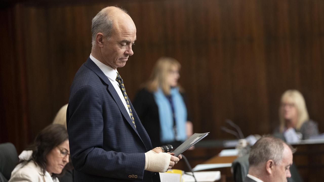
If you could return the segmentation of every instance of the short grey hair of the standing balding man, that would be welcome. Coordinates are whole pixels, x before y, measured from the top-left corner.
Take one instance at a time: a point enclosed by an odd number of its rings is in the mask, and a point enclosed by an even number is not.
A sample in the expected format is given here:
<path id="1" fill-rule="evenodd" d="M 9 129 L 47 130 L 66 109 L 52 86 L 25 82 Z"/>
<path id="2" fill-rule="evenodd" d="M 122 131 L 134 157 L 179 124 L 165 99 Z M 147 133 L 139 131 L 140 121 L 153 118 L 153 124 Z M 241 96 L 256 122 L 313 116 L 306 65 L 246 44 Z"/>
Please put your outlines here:
<path id="1" fill-rule="evenodd" d="M 124 13 L 127 13 L 126 10 L 117 7 Z M 113 20 L 108 15 L 107 10 L 102 9 L 99 13 L 92 18 L 92 25 L 91 25 L 91 32 L 92 32 L 92 47 L 96 45 L 96 36 L 100 32 L 102 33 L 107 39 L 110 38 L 113 31 Z"/>

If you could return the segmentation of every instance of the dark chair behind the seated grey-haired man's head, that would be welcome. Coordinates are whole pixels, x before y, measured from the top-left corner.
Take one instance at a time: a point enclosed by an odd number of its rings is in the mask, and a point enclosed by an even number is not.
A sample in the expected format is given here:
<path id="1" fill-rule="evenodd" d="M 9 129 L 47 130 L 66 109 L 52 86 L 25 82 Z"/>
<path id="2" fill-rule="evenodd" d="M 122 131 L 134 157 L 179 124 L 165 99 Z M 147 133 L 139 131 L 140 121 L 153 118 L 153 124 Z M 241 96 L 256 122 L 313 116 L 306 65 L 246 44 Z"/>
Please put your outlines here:
<path id="1" fill-rule="evenodd" d="M 232 163 L 232 173 L 235 182 L 243 182 L 249 172 L 249 155 L 238 157 Z M 288 182 L 303 182 L 298 173 L 297 167 L 293 164 L 290 166 L 291 177 L 287 178 Z"/>

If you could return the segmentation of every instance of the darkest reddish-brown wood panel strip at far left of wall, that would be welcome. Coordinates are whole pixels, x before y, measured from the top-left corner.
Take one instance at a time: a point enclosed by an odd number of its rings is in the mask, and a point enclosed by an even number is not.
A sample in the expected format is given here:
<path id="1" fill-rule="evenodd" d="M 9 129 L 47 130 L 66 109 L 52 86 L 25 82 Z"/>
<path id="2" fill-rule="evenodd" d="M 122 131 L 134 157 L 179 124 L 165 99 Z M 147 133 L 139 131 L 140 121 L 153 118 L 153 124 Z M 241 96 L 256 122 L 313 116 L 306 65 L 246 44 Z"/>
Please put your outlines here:
<path id="1" fill-rule="evenodd" d="M 20 6 L 0 10 L 0 142 L 12 142 L 18 151 L 29 136 L 24 41 L 20 29 Z"/>

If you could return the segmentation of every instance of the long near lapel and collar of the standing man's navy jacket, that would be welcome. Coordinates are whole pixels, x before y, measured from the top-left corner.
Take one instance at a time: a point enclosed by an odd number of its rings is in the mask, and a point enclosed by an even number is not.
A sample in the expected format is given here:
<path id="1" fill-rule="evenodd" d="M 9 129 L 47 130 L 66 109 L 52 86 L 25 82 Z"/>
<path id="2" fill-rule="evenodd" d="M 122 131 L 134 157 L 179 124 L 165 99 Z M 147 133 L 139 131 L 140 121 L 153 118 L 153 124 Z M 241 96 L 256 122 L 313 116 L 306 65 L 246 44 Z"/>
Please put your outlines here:
<path id="1" fill-rule="evenodd" d="M 127 120 L 127 122 L 131 125 L 131 127 L 137 133 L 137 135 L 140 137 L 140 135 L 138 134 L 137 130 L 135 129 L 135 126 L 133 124 L 133 121 L 132 121 L 131 117 L 129 116 L 129 114 L 128 114 L 128 112 L 127 112 L 124 104 L 122 103 L 122 101 L 121 101 L 118 93 L 116 92 L 114 86 L 111 85 L 111 82 L 107 78 L 107 76 L 100 70 L 100 68 L 96 65 L 96 63 L 94 63 L 90 59 L 90 57 L 88 57 L 87 62 L 85 63 L 85 66 L 87 66 L 89 69 L 91 69 L 93 72 L 95 72 L 95 74 L 97 74 L 101 78 L 101 80 L 103 80 L 108 85 L 108 91 L 110 92 L 111 96 L 113 97 L 113 99 L 117 103 L 117 106 L 120 109 L 122 115 Z"/>

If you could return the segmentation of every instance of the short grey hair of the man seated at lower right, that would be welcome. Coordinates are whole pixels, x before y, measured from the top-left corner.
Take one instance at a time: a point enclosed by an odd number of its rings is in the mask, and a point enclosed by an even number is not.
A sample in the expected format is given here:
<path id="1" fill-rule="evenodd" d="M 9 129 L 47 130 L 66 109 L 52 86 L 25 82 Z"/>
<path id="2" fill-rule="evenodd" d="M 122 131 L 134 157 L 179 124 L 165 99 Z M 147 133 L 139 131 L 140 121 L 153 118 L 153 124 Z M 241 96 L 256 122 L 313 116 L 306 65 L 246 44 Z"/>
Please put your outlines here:
<path id="1" fill-rule="evenodd" d="M 284 145 L 287 145 L 292 153 L 295 152 L 295 149 L 283 140 L 272 136 L 263 136 L 251 148 L 249 165 L 256 166 L 270 159 L 274 161 L 275 165 L 280 164 L 283 158 Z"/>

